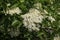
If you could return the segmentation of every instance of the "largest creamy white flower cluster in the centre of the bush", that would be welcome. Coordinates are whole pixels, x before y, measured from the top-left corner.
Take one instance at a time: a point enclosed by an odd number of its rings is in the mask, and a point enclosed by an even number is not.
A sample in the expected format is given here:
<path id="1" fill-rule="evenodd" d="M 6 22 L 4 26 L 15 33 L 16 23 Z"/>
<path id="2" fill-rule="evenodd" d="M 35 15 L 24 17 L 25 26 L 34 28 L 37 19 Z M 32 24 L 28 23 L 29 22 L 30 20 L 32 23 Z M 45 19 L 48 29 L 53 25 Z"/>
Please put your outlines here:
<path id="1" fill-rule="evenodd" d="M 21 15 L 24 23 L 24 26 L 29 30 L 39 31 L 40 25 L 36 26 L 35 23 L 42 23 L 44 17 L 40 14 L 40 11 L 37 9 L 30 9 L 29 12 L 25 15 Z"/>

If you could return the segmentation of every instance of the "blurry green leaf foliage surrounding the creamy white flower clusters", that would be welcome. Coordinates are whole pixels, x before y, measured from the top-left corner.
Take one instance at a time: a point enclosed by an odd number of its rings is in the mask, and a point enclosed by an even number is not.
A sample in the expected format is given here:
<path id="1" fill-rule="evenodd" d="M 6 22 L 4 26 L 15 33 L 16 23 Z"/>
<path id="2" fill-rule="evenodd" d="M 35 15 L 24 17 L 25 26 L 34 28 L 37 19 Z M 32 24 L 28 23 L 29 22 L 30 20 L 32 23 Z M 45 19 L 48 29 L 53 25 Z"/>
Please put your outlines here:
<path id="1" fill-rule="evenodd" d="M 34 8 L 33 4 L 38 2 L 42 4 L 42 11 L 44 9 L 47 10 L 49 13 L 47 16 L 52 15 L 56 21 L 51 23 L 46 18 L 42 22 L 43 25 L 40 24 L 40 31 L 30 32 L 23 26 L 21 15 L 26 14 L 30 8 Z M 8 3 L 11 5 L 7 6 Z M 22 10 L 22 14 L 5 15 L 6 10 L 15 7 L 19 7 Z M 59 12 L 60 0 L 0 0 L 0 40 L 53 40 L 56 34 L 60 34 L 60 15 L 57 14 Z M 52 28 L 50 29 L 49 26 Z M 19 36 L 11 37 L 9 34 L 10 31 L 8 31 L 11 28 L 19 29 Z"/>

